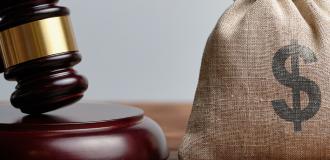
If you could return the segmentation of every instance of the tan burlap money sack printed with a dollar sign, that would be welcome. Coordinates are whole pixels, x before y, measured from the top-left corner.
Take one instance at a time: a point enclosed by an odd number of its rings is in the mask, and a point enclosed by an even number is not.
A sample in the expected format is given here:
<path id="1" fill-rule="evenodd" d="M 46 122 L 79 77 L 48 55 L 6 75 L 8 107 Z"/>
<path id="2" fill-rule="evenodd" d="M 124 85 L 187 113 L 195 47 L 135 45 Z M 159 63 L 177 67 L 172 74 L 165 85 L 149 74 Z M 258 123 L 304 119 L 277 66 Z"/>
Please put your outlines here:
<path id="1" fill-rule="evenodd" d="M 206 45 L 181 160 L 330 159 L 330 0 L 237 0 Z"/>

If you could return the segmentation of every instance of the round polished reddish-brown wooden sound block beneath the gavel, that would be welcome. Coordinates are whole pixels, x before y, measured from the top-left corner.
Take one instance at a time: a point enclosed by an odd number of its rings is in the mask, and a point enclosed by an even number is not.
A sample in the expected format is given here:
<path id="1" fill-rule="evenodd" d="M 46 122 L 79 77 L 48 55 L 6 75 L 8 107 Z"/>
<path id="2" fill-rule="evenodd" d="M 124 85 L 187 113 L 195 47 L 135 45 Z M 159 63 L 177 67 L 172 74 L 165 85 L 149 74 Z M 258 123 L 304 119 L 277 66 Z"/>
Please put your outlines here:
<path id="1" fill-rule="evenodd" d="M 45 115 L 0 104 L 0 159 L 165 160 L 161 128 L 138 108 L 79 103 Z"/>

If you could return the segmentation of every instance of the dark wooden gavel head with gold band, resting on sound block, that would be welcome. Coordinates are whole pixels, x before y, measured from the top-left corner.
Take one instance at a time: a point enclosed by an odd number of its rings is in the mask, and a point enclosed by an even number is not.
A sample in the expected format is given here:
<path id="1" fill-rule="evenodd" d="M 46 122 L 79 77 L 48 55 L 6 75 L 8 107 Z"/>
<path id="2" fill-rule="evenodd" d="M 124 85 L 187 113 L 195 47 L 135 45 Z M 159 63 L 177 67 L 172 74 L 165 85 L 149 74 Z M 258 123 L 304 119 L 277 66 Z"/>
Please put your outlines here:
<path id="1" fill-rule="evenodd" d="M 1 0 L 0 48 L 7 80 L 17 81 L 11 103 L 41 114 L 82 98 L 87 80 L 72 68 L 81 61 L 69 10 L 58 0 Z"/>

